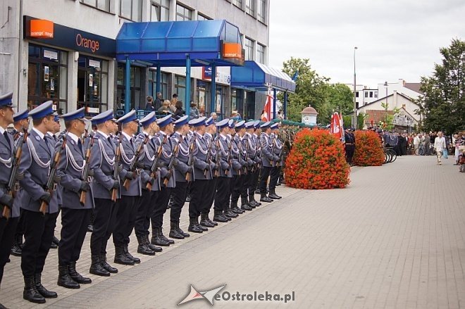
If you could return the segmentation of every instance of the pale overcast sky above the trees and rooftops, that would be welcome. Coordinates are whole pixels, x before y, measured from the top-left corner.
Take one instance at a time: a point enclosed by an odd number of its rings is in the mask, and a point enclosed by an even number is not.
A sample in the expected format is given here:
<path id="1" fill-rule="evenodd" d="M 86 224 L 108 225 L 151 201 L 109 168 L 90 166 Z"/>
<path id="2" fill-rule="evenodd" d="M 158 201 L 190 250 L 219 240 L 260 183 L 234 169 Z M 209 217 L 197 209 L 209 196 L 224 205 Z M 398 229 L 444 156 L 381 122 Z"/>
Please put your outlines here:
<path id="1" fill-rule="evenodd" d="M 419 82 L 439 48 L 465 39 L 464 0 L 271 0 L 268 64 L 309 58 L 330 82 Z"/>

